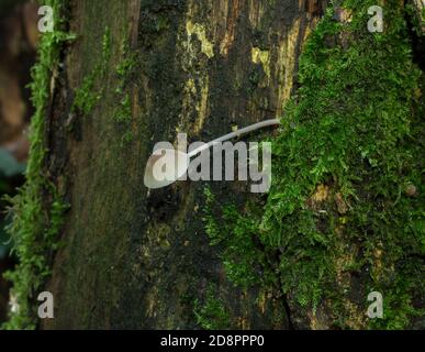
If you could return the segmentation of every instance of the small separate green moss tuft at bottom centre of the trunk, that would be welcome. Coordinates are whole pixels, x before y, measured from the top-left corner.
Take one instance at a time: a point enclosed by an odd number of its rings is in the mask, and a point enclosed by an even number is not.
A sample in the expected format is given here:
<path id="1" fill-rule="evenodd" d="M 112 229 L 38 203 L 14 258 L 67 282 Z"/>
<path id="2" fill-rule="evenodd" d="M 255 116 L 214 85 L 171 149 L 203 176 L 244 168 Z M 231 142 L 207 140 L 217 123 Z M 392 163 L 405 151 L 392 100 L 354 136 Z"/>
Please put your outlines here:
<path id="1" fill-rule="evenodd" d="M 197 323 L 205 330 L 223 330 L 228 329 L 231 319 L 213 285 L 210 285 L 206 290 L 206 298 L 203 305 L 198 300 L 194 302 L 193 309 L 197 318 Z"/>

